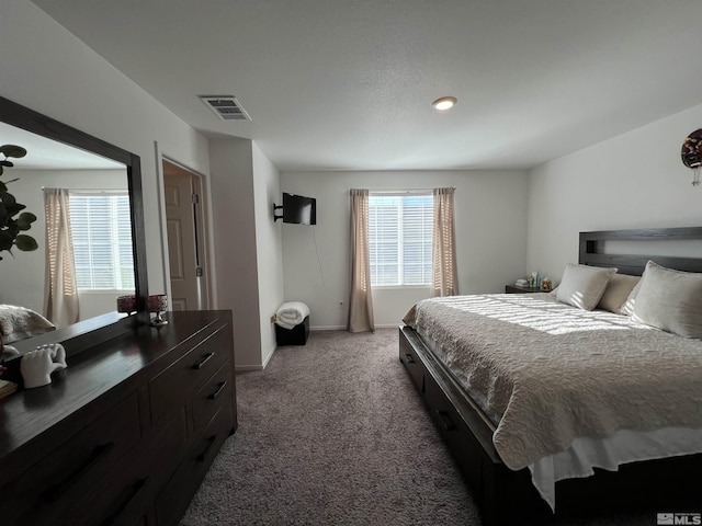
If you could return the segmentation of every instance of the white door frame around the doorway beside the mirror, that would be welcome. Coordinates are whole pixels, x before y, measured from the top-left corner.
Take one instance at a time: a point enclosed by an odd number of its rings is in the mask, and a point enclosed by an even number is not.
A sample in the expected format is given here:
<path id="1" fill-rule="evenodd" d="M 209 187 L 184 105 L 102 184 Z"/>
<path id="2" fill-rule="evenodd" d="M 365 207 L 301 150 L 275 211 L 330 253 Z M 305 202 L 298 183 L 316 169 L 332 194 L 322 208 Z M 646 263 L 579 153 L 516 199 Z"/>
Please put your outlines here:
<path id="1" fill-rule="evenodd" d="M 203 273 L 207 276 L 205 283 L 202 287 L 202 310 L 214 309 L 217 305 L 217 298 L 215 296 L 215 272 L 214 272 L 214 242 L 213 242 L 213 232 L 212 232 L 212 207 L 210 206 L 210 181 L 208 178 L 199 172 L 197 170 L 193 170 L 192 168 L 183 164 L 182 162 L 176 160 L 172 156 L 163 153 L 159 151 L 157 145 L 157 174 L 158 174 L 158 204 L 159 204 L 159 217 L 160 217 L 160 233 L 161 233 L 161 261 L 163 264 L 163 288 L 169 298 L 169 308 L 172 308 L 171 305 L 171 275 L 170 275 L 170 261 L 169 261 L 169 251 L 168 251 L 168 224 L 166 218 L 166 197 L 165 197 L 165 187 L 166 181 L 163 175 L 163 162 L 168 162 L 170 164 L 174 164 L 176 167 L 185 170 L 191 173 L 194 178 L 200 180 L 200 186 L 202 188 L 202 195 L 200 195 L 200 205 L 202 209 L 202 225 L 201 227 L 201 238 L 202 239 L 202 254 L 201 254 L 201 267 L 203 268 Z"/>

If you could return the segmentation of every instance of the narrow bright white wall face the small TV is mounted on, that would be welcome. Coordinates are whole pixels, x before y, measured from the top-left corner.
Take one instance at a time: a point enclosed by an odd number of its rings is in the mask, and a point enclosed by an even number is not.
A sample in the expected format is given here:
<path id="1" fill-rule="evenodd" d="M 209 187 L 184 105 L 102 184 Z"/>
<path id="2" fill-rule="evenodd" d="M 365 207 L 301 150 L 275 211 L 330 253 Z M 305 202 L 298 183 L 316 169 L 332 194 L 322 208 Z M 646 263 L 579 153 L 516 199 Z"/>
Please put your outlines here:
<path id="1" fill-rule="evenodd" d="M 275 330 L 270 318 L 283 302 L 282 236 L 273 222 L 273 203 L 280 202 L 281 186 L 275 167 L 256 142 L 252 146 L 261 364 L 264 366 L 275 351 Z"/>

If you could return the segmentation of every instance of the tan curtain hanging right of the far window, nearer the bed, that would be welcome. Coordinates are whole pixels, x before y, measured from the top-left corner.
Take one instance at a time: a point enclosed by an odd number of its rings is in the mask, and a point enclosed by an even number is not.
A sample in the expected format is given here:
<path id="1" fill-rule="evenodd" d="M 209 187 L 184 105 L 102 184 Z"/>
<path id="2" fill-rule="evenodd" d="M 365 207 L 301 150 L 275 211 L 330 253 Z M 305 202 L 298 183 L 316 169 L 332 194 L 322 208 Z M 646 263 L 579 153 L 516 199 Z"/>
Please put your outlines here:
<path id="1" fill-rule="evenodd" d="M 455 296 L 458 294 L 453 192 L 454 188 L 434 188 L 433 192 L 433 296 Z"/>

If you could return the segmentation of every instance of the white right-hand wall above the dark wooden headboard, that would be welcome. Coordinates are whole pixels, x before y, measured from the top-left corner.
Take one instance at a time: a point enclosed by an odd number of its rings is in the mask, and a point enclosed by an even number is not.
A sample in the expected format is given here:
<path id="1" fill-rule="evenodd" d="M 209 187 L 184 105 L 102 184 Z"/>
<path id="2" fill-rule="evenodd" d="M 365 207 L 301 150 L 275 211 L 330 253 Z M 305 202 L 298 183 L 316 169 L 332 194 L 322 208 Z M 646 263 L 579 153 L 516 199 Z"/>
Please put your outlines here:
<path id="1" fill-rule="evenodd" d="M 528 265 L 561 279 L 589 230 L 702 225 L 702 187 L 680 160 L 702 105 L 530 172 Z"/>

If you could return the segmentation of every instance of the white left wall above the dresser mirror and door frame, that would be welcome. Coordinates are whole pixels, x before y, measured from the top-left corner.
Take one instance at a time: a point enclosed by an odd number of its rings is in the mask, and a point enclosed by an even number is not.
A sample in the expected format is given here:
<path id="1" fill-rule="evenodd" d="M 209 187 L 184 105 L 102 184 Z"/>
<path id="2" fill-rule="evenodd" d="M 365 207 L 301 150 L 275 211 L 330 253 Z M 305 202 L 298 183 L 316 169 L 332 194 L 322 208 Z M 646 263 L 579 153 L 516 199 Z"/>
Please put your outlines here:
<path id="1" fill-rule="evenodd" d="M 141 159 L 149 290 L 165 290 L 155 142 L 208 173 L 207 141 L 29 0 L 4 0 L 0 94 Z M 125 35 L 127 38 L 128 35 Z"/>

